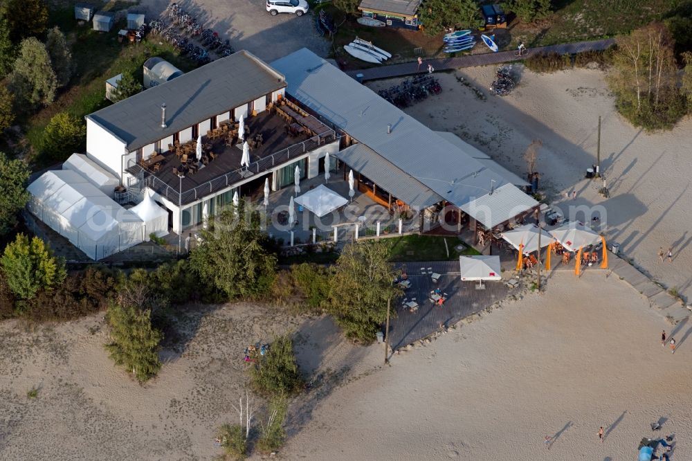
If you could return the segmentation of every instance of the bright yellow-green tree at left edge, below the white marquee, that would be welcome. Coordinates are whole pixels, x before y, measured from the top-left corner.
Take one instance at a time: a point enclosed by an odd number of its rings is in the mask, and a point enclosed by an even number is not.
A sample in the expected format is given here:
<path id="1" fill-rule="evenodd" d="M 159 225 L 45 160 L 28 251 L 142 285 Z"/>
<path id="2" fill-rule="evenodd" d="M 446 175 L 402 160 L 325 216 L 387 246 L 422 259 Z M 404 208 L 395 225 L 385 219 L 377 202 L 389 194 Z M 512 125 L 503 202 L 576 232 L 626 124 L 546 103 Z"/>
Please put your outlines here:
<path id="1" fill-rule="evenodd" d="M 19 299 L 30 299 L 41 289 L 57 287 L 67 274 L 65 263 L 42 239 L 29 239 L 21 233 L 5 247 L 0 264 L 7 284 Z"/>

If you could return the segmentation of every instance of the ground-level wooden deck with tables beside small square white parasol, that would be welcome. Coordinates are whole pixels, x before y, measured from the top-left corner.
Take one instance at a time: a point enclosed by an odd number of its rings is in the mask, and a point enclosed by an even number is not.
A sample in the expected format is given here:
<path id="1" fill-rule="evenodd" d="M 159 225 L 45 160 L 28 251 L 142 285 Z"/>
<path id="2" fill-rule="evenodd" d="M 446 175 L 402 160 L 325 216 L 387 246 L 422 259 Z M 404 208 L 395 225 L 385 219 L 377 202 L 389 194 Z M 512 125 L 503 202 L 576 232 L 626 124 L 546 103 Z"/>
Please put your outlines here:
<path id="1" fill-rule="evenodd" d="M 399 264 L 401 266 L 403 264 Z M 440 325 L 446 327 L 457 323 L 464 317 L 482 311 L 493 303 L 516 293 L 518 288 L 509 288 L 504 282 L 485 282 L 485 289 L 475 289 L 478 282 L 462 282 L 459 277 L 459 261 L 407 262 L 406 274 L 411 286 L 404 296 L 394 305 L 397 316 L 390 320 L 390 346 L 397 350 L 419 339 L 437 332 Z M 441 274 L 435 283 L 430 271 Z M 423 269 L 423 270 L 421 270 Z M 425 273 L 424 273 L 425 272 Z M 444 306 L 437 306 L 430 301 L 430 291 L 439 288 L 447 293 Z M 416 298 L 419 308 L 411 312 L 403 302 Z"/>

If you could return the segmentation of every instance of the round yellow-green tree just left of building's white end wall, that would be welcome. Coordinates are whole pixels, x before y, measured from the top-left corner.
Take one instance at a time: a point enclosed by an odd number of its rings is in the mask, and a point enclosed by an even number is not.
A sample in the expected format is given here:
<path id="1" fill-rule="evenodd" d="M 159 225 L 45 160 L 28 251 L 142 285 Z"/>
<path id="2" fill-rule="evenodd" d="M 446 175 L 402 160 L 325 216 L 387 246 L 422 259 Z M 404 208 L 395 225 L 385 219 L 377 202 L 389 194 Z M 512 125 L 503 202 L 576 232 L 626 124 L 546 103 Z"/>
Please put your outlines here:
<path id="1" fill-rule="evenodd" d="M 46 125 L 42 152 L 55 160 L 64 160 L 74 152 L 83 150 L 86 143 L 86 125 L 67 112 L 59 112 Z"/>

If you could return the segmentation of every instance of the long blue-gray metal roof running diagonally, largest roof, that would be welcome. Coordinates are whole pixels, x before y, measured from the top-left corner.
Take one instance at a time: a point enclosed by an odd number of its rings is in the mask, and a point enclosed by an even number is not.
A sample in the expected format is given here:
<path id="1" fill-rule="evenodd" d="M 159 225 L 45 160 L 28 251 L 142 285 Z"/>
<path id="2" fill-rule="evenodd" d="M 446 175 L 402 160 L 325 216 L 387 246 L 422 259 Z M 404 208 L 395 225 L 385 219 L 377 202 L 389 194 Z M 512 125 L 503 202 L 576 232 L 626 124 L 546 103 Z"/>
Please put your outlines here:
<path id="1" fill-rule="evenodd" d="M 272 66 L 293 98 L 455 206 L 509 182 L 307 48 Z"/>

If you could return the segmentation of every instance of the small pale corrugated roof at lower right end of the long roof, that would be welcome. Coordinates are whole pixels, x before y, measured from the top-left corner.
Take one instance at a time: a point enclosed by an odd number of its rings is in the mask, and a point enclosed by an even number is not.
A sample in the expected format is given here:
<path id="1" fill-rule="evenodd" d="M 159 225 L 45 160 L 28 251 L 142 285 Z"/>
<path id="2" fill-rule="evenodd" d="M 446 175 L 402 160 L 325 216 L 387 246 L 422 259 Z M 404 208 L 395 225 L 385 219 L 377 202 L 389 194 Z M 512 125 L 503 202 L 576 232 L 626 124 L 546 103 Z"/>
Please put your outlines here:
<path id="1" fill-rule="evenodd" d="M 534 206 L 538 206 L 538 202 L 533 197 L 529 197 L 512 184 L 505 184 L 494 190 L 492 194 L 478 197 L 459 208 L 487 229 L 491 229 L 516 215 L 531 210 Z"/>

